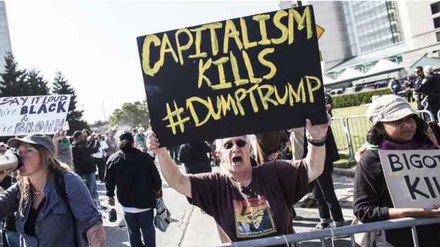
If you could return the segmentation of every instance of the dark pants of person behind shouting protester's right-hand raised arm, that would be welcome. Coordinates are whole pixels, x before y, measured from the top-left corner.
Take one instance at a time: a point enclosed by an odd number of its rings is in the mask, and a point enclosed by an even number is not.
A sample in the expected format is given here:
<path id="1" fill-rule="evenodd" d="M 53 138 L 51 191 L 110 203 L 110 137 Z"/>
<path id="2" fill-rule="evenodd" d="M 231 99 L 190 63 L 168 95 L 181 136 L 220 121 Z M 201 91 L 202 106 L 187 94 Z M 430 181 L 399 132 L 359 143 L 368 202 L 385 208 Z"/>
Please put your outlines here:
<path id="1" fill-rule="evenodd" d="M 333 163 L 324 164 L 324 171 L 314 183 L 313 194 L 318 203 L 319 217 L 321 219 L 331 219 L 335 222 L 342 222 L 343 215 L 341 205 L 339 205 L 338 198 L 334 192 L 333 178 Z"/>

